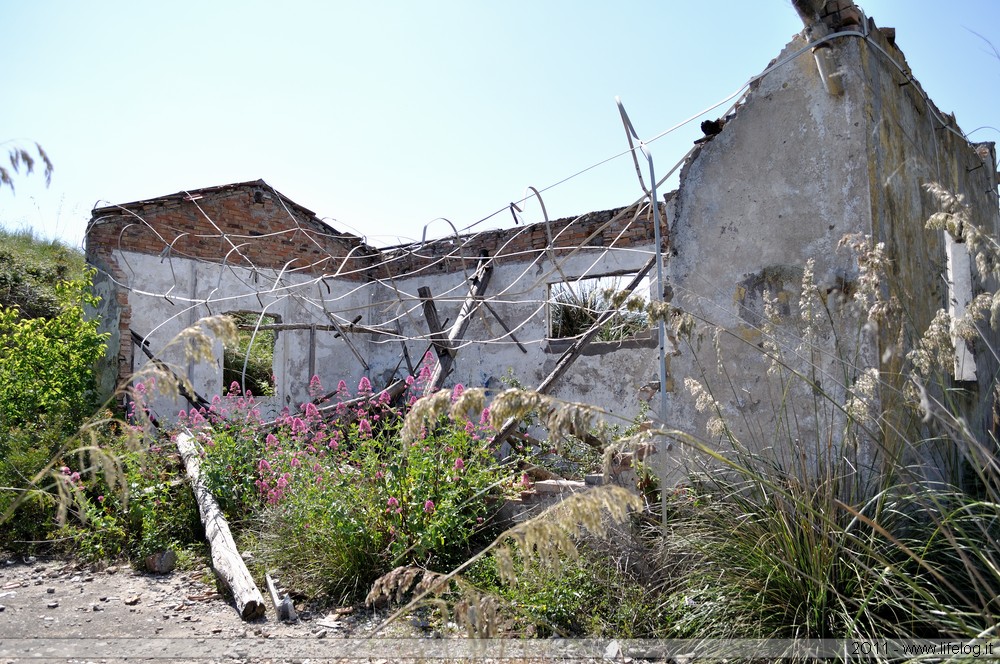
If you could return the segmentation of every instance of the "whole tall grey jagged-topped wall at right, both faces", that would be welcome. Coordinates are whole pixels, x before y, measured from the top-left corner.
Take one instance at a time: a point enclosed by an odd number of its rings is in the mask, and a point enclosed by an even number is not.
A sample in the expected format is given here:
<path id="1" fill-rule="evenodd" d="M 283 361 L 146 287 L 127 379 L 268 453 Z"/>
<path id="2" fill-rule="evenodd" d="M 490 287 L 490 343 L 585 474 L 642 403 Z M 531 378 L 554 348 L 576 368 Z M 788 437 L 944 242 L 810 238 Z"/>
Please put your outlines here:
<path id="1" fill-rule="evenodd" d="M 870 29 L 871 39 L 905 66 L 902 54 Z M 802 46 L 795 39 L 779 61 Z M 697 412 L 683 389 L 683 379 L 695 377 L 711 389 L 735 436 L 753 449 L 784 446 L 798 457 L 836 443 L 844 419 L 833 404 L 845 403 L 866 368 L 898 383 L 906 350 L 885 355 L 886 340 L 844 306 L 858 271 L 854 254 L 838 246 L 841 239 L 860 233 L 886 242 L 904 309 L 922 330 L 947 295 L 943 243 L 924 230 L 936 203 L 922 185 L 943 176 L 947 186 L 974 193 L 995 224 L 995 180 L 978 175 L 972 186 L 967 167 L 980 161 L 963 139 L 934 126 L 918 84 L 861 39 L 839 39 L 833 51 L 842 94 L 827 91 L 806 51 L 758 80 L 682 173 L 668 283 L 674 304 L 694 315 L 696 335 L 705 336 L 682 344 L 673 358 L 670 425 L 706 436 L 710 413 Z M 995 162 L 980 170 L 994 177 Z M 801 324 L 796 313 L 808 260 L 836 322 L 804 350 L 793 321 Z M 765 329 L 765 292 L 780 311 L 774 335 Z M 716 329 L 723 331 L 721 372 L 707 342 Z M 788 369 L 808 380 L 789 384 L 769 375 L 767 341 L 777 342 Z M 883 363 L 890 357 L 895 363 Z M 869 442 L 859 461 L 874 466 L 881 450 Z M 673 454 L 680 466 L 683 454 Z"/>

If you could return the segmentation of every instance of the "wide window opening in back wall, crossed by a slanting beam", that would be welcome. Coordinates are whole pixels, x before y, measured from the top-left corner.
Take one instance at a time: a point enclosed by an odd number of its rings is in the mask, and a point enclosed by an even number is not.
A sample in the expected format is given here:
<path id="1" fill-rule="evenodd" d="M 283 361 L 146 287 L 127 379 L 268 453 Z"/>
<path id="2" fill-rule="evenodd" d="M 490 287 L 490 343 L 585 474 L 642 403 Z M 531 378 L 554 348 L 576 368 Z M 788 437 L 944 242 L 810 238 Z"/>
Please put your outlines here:
<path id="1" fill-rule="evenodd" d="M 595 341 L 624 341 L 648 330 L 649 278 L 639 282 L 630 294 L 622 291 L 634 276 L 580 277 L 549 284 L 549 337 L 579 337 L 610 309 L 616 312 L 601 325 Z"/>

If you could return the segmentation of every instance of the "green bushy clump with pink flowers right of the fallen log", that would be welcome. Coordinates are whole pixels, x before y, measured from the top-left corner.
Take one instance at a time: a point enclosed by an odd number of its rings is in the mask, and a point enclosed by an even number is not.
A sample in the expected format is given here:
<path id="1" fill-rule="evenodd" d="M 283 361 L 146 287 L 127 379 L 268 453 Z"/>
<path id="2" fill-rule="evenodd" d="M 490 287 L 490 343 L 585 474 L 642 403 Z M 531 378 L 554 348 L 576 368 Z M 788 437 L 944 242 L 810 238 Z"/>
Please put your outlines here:
<path id="1" fill-rule="evenodd" d="M 333 401 L 320 403 L 339 416 L 334 422 L 309 403 L 264 427 L 253 396 L 236 385 L 187 414 L 208 484 L 252 534 L 260 564 L 310 596 L 356 600 L 396 566 L 442 569 L 470 555 L 505 471 L 486 447 L 492 430 L 482 412 L 456 410 L 423 422 L 412 440 L 400 436 L 429 376 L 425 365 L 396 405 L 373 395 L 367 379 L 355 393 L 341 381 Z M 318 398 L 323 387 L 314 380 L 310 391 Z M 461 395 L 458 386 L 453 401 Z"/>

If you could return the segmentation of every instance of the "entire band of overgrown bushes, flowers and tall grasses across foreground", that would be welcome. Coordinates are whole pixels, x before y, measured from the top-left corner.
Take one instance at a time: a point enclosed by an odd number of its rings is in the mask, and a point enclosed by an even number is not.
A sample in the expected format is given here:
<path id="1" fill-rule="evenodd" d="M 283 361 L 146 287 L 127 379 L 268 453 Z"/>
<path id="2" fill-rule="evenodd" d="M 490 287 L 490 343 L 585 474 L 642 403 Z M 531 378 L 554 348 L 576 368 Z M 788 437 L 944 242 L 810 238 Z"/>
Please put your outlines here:
<path id="1" fill-rule="evenodd" d="M 725 344 L 717 341 L 713 356 L 692 335 L 721 339 L 726 330 L 707 322 L 698 329 L 683 312 L 616 294 L 587 306 L 591 313 L 642 309 L 644 325 L 665 319 L 682 352 L 700 362 L 701 376 L 685 387 L 705 419 L 703 433 L 633 427 L 605 454 L 610 463 L 656 436 L 691 453 L 684 484 L 646 487 L 650 496 L 667 493 L 662 527 L 649 507 L 659 501 L 595 490 L 490 542 L 489 517 L 511 480 L 486 445 L 494 427 L 532 419 L 548 430 L 552 447 L 565 436 L 611 432 L 592 408 L 523 389 L 495 395 L 484 410 L 484 390 L 418 400 L 417 384 L 393 403 L 376 398 L 364 380 L 269 424 L 252 391 L 235 385 L 210 407 L 183 413 L 182 423 L 198 433 L 208 481 L 257 564 L 281 570 L 311 596 L 356 600 L 374 582 L 372 601 L 432 601 L 442 620 L 454 617 L 477 635 L 995 640 L 1000 454 L 992 433 L 972 433 L 971 400 L 956 398 L 951 371 L 955 334 L 996 350 L 988 327 L 1000 311 L 1000 247 L 961 198 L 932 191 L 942 212 L 929 229 L 963 242 L 980 283 L 990 286 L 969 319 L 942 312 L 920 329 L 894 292 L 885 247 L 845 238 L 843 250 L 858 265 L 851 289 L 820 289 L 809 264 L 789 308 L 794 315 L 779 315 L 771 295 L 764 297 L 760 348 L 779 395 L 766 440 L 738 433 L 740 422 L 713 392 L 727 384 Z M 73 381 L 85 382 L 84 360 L 100 339 L 67 342 L 46 336 L 43 325 L 66 315 L 72 324 L 51 329 L 89 329 L 80 308 L 85 285 L 61 287 L 49 320 L 28 325 L 12 309 L 0 319 L 12 330 L 5 349 L 23 334 L 52 354 L 51 363 L 61 361 L 53 346 L 83 343 L 71 353 L 75 376 L 55 387 L 35 387 L 40 370 L 22 369 L 19 359 L 0 367 L 9 376 L 0 386 L 9 390 L 0 481 L 21 487 L 0 495 L 6 505 L 24 489 L 32 497 L 14 518 L 6 514 L 3 527 L 18 540 L 44 537 L 62 506 L 77 517 L 62 535 L 84 555 L 184 547 L 197 536 L 190 494 L 168 440 L 141 426 L 143 392 L 170 389 L 166 377 L 136 383 L 134 426 L 82 422 L 86 409 L 64 412 L 61 397 L 52 396 L 53 389 L 86 394 Z M 880 369 L 885 357 L 858 352 L 872 330 L 912 349 L 894 358 L 892 371 Z M 208 353 L 210 346 L 193 348 Z M 323 393 L 318 383 L 311 389 L 314 397 Z M 788 401 L 802 394 L 803 403 Z M 797 419 L 801 407 L 808 426 Z M 95 447 L 68 452 L 82 439 L 67 431 L 81 423 L 103 456 Z M 928 477 L 919 463 L 927 449 L 942 447 L 949 463 Z"/>

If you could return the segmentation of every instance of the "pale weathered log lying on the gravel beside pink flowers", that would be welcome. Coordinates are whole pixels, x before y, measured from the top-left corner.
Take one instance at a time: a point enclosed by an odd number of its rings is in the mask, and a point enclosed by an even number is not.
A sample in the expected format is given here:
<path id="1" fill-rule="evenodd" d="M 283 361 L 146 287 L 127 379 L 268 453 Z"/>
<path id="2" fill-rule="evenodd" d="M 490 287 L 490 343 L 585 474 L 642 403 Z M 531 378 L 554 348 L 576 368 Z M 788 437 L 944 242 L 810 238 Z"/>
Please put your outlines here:
<path id="1" fill-rule="evenodd" d="M 198 512 L 201 523 L 205 526 L 205 539 L 212 549 L 212 568 L 216 576 L 232 592 L 236 609 L 243 620 L 263 617 L 264 596 L 257 589 L 250 570 L 236 549 L 233 534 L 229 531 L 229 524 L 226 523 L 219 504 L 201 479 L 201 459 L 194 437 L 187 432 L 178 434 L 177 451 L 184 459 L 191 490 L 198 501 Z"/>

